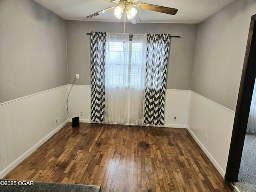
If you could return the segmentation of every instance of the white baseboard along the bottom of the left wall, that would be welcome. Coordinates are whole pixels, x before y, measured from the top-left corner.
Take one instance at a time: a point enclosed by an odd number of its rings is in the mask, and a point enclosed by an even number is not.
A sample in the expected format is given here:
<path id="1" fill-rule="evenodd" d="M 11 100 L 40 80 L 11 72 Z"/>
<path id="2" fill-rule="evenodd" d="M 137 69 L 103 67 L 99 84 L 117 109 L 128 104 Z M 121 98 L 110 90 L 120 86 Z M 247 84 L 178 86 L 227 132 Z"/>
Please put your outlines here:
<path id="1" fill-rule="evenodd" d="M 3 178 L 8 174 L 12 169 L 14 169 L 18 164 L 20 164 L 25 158 L 27 158 L 30 154 L 32 154 L 38 147 L 40 147 L 44 142 L 46 142 L 48 139 L 50 139 L 56 132 L 58 132 L 61 128 L 63 128 L 69 120 L 66 120 L 63 122 L 60 126 L 58 126 L 56 129 L 54 129 L 52 132 L 50 132 L 46 137 L 44 137 L 42 140 L 40 140 L 37 144 L 35 144 L 32 148 L 27 150 L 22 156 L 20 156 L 18 159 L 16 159 L 12 164 L 10 164 L 8 167 L 6 167 L 4 170 L 0 172 L 0 178 Z"/>

